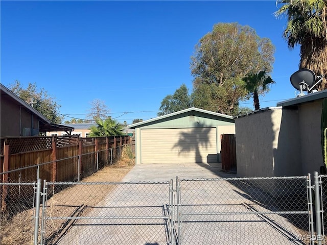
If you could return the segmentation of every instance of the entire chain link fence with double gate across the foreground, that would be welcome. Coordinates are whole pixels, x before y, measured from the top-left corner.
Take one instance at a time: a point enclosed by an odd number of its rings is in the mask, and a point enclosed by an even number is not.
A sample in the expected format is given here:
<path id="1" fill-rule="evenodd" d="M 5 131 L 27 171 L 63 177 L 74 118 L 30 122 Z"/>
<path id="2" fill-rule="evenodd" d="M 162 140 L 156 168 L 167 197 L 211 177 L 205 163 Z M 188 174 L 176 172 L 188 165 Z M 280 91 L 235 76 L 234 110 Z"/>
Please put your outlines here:
<path id="1" fill-rule="evenodd" d="M 0 183 L 0 243 L 325 244 L 327 176 L 313 180 Z"/>

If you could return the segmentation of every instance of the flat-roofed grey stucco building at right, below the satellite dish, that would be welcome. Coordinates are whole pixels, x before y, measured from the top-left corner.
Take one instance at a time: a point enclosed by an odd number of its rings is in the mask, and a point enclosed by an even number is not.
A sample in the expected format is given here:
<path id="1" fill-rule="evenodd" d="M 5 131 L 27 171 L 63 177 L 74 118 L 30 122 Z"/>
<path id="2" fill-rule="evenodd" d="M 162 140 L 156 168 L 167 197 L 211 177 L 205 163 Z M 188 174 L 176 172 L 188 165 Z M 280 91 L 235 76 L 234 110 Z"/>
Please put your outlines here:
<path id="1" fill-rule="evenodd" d="M 298 176 L 319 171 L 322 100 L 327 90 L 235 118 L 239 177 Z"/>

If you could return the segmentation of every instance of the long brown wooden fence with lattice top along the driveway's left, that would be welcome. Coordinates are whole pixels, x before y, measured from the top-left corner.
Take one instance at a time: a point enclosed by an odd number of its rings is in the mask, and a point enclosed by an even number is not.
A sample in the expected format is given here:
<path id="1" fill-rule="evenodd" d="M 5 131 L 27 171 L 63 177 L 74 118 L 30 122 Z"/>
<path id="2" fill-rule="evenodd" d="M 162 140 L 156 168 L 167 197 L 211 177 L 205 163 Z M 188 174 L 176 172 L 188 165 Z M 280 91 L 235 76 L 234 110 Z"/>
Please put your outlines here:
<path id="1" fill-rule="evenodd" d="M 129 136 L 2 138 L 1 182 L 75 181 L 114 161 L 128 143 Z"/>

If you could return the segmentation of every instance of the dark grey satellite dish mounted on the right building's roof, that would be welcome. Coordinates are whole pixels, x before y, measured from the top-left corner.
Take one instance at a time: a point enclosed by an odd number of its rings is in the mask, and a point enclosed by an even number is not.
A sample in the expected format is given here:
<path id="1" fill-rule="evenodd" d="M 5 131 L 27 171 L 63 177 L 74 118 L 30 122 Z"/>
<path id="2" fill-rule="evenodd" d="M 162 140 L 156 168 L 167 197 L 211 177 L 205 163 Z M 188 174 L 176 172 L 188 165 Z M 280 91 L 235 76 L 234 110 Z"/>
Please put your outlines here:
<path id="1" fill-rule="evenodd" d="M 317 79 L 318 81 L 316 82 Z M 315 72 L 310 69 L 300 69 L 292 74 L 290 80 L 293 87 L 300 91 L 297 95 L 298 97 L 305 95 L 303 91 L 308 91 L 309 93 L 316 91 L 312 89 L 322 81 L 322 76 L 316 77 Z"/>

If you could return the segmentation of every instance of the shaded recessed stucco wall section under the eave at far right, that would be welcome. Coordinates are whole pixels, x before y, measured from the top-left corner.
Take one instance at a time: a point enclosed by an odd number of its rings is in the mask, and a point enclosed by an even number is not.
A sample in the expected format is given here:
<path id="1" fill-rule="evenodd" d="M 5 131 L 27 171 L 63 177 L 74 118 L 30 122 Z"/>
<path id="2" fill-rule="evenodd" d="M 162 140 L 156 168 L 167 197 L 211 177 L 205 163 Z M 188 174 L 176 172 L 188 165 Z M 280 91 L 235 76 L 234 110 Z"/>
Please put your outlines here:
<path id="1" fill-rule="evenodd" d="M 299 106 L 302 174 L 319 172 L 323 165 L 321 149 L 322 100 Z"/>

